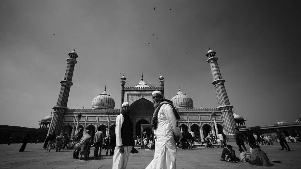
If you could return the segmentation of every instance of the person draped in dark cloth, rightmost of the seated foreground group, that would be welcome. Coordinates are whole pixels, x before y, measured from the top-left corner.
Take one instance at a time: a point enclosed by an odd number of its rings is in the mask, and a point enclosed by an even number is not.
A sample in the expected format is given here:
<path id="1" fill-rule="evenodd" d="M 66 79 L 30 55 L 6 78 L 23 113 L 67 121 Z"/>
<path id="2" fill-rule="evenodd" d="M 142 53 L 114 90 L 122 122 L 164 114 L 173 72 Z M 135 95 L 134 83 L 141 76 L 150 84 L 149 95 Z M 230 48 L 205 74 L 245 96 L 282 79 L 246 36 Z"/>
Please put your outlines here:
<path id="1" fill-rule="evenodd" d="M 260 149 L 258 144 L 254 145 L 249 163 L 252 165 L 273 166 L 268 160 L 268 156 Z"/>

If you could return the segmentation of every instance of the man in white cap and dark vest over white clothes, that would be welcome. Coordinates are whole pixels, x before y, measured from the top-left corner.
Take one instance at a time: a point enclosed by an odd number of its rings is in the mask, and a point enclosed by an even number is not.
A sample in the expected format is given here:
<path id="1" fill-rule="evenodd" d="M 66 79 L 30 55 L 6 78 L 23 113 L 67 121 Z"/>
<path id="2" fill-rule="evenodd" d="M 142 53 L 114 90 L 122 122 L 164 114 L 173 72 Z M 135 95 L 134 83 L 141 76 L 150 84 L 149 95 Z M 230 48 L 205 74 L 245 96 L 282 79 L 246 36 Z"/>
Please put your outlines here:
<path id="1" fill-rule="evenodd" d="M 116 117 L 116 147 L 113 155 L 113 169 L 125 169 L 134 149 L 133 125 L 129 117 L 129 102 L 122 103 L 122 112 Z"/>

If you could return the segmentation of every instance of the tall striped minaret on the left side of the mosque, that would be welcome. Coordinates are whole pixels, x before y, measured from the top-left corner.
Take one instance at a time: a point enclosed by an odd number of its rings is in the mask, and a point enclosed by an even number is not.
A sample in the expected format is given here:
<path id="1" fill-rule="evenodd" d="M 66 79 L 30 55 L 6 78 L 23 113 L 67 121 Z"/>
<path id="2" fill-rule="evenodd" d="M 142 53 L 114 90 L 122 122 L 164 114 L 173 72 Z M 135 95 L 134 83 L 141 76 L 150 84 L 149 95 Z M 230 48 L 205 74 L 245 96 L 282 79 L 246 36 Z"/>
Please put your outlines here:
<path id="1" fill-rule="evenodd" d="M 70 92 L 70 87 L 72 86 L 72 76 L 73 76 L 73 70 L 74 66 L 77 63 L 76 58 L 78 55 L 74 51 L 69 53 L 69 58 L 67 59 L 67 69 L 64 76 L 64 80 L 62 80 L 60 83 L 61 85 L 61 91 L 57 98 L 56 105 L 52 108 L 54 109 L 53 117 L 49 126 L 48 134 L 52 132 L 56 132 L 57 135 L 62 133 L 62 126 L 63 126 L 63 118 L 64 118 L 64 112 L 68 109 L 67 103 L 68 103 L 68 97 Z"/>

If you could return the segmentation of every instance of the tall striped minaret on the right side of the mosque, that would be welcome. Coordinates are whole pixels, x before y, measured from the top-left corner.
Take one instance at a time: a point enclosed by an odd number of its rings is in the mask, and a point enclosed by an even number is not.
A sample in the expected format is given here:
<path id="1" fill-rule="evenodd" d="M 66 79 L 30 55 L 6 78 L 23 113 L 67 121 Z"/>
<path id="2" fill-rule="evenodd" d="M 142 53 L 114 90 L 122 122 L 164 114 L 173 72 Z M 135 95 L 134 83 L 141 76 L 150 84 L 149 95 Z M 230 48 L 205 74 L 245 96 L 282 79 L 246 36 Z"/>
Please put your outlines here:
<path id="1" fill-rule="evenodd" d="M 222 111 L 222 116 L 224 120 L 224 132 L 229 139 L 233 139 L 235 135 L 234 128 L 236 127 L 234 116 L 232 112 L 233 106 L 230 105 L 228 95 L 225 89 L 224 82 L 221 72 L 219 71 L 219 66 L 217 65 L 218 58 L 215 56 L 216 52 L 210 50 L 207 52 L 208 57 L 207 62 L 210 64 L 211 73 L 213 77 L 212 84 L 214 84 L 217 100 L 219 102 L 219 108 Z M 231 136 L 232 135 L 232 136 Z M 229 137 L 230 136 L 230 137 Z"/>

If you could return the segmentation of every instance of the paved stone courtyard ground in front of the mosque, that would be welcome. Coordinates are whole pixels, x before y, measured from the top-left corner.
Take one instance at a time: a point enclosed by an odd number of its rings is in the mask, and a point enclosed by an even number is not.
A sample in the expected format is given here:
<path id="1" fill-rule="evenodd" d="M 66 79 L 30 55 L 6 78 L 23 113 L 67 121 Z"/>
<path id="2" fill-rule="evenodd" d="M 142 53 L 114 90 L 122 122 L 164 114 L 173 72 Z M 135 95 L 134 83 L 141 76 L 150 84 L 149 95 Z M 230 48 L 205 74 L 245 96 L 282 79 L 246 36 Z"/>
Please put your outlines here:
<path id="1" fill-rule="evenodd" d="M 238 146 L 234 142 L 228 142 L 234 147 L 236 155 L 239 156 Z M 45 153 L 43 144 L 27 144 L 25 152 L 18 152 L 21 144 L 0 145 L 0 168 L 42 168 L 42 169 L 82 169 L 82 168 L 112 168 L 113 157 L 90 157 L 87 160 L 73 159 L 72 150 L 62 150 L 61 152 Z M 289 143 L 290 152 L 281 152 L 278 143 L 273 146 L 261 146 L 270 161 L 280 160 L 282 164 L 275 164 L 271 168 L 301 168 L 301 143 Z M 247 146 L 247 148 L 250 148 Z M 145 168 L 154 158 L 154 150 L 139 150 L 138 154 L 131 154 L 127 168 Z M 93 155 L 94 149 L 91 149 Z M 220 161 L 221 148 L 214 149 L 194 149 L 177 151 L 177 168 L 267 168 L 254 166 L 249 163 L 229 163 Z M 102 154 L 105 154 L 104 151 Z"/>

